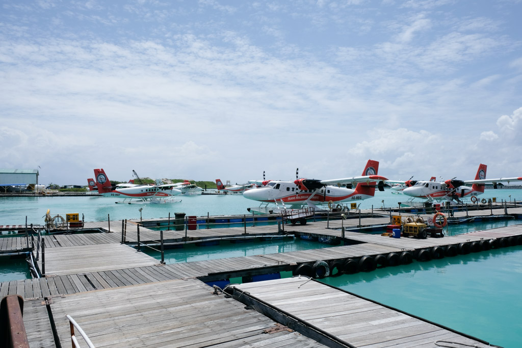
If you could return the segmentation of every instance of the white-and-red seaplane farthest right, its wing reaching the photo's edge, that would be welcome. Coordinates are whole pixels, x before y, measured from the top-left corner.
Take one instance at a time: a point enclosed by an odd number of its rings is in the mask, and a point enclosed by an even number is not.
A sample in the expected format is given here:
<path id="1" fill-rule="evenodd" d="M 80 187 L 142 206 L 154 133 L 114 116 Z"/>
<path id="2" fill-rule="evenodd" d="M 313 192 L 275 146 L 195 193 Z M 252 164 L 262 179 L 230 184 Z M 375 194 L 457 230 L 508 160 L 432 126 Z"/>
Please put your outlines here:
<path id="1" fill-rule="evenodd" d="M 487 165 L 480 164 L 473 180 L 462 181 L 453 178 L 442 182 L 434 180 L 410 182 L 410 186 L 402 190 L 402 193 L 413 198 L 423 198 L 428 201 L 444 200 L 450 202 L 450 204 L 456 204 L 461 203 L 460 199 L 465 197 L 470 197 L 472 202 L 476 202 L 477 196 L 484 193 L 485 184 L 493 184 L 493 188 L 496 188 L 498 183 L 522 181 L 522 177 L 486 179 L 487 169 Z M 388 181 L 388 183 L 390 182 L 397 183 L 397 181 Z M 465 186 L 469 184 L 471 184 L 471 187 Z"/>

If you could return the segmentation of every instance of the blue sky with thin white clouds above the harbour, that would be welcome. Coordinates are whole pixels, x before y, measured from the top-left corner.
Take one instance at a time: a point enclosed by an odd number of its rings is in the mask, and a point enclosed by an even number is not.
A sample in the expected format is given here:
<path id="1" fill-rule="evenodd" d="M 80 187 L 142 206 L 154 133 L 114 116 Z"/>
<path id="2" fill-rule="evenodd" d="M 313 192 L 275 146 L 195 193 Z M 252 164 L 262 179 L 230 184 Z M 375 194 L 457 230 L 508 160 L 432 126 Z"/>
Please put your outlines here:
<path id="1" fill-rule="evenodd" d="M 522 176 L 522 0 L 0 0 L 0 168 Z"/>

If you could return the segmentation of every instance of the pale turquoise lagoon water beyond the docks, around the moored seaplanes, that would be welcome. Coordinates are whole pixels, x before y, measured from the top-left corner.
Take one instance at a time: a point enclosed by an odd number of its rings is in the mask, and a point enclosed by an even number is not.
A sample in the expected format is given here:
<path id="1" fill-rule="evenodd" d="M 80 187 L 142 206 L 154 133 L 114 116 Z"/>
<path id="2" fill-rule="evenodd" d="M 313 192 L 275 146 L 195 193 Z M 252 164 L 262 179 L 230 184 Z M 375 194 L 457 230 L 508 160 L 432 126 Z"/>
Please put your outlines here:
<path id="1" fill-rule="evenodd" d="M 511 197 L 509 197 L 511 195 Z M 522 200 L 522 189 L 487 189 L 480 197 L 496 197 L 497 201 L 516 199 Z M 198 217 L 210 215 L 248 214 L 249 207 L 259 206 L 259 202 L 246 199 L 242 195 L 202 195 L 176 196 L 182 199 L 178 203 L 168 204 L 116 204 L 116 198 L 101 196 L 78 197 L 0 197 L 0 225 L 42 224 L 43 217 L 48 209 L 51 215 L 66 213 L 82 214 L 85 221 L 105 221 L 110 215 L 111 220 L 139 219 L 139 209 L 143 208 L 143 219 L 167 218 L 169 213 L 184 212 L 187 215 Z M 406 201 L 405 195 L 392 194 L 392 191 L 376 192 L 375 197 L 358 201 L 361 209 L 397 207 L 398 202 Z M 384 203 L 382 202 L 384 200 Z M 121 200 L 119 200 L 121 201 Z"/>

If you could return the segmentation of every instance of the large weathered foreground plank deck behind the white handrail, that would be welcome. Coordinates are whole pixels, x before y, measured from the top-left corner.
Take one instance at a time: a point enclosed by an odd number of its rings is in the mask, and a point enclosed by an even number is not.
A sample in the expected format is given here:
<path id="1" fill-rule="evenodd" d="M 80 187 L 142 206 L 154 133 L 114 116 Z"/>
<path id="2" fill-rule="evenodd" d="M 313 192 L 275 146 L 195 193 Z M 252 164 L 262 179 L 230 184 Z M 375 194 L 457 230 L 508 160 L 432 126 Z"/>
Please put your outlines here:
<path id="1" fill-rule="evenodd" d="M 198 280 L 175 280 L 53 298 L 62 346 L 72 316 L 96 347 L 323 347 Z M 50 332 L 48 334 L 51 334 Z M 80 341 L 81 344 L 81 341 Z"/>

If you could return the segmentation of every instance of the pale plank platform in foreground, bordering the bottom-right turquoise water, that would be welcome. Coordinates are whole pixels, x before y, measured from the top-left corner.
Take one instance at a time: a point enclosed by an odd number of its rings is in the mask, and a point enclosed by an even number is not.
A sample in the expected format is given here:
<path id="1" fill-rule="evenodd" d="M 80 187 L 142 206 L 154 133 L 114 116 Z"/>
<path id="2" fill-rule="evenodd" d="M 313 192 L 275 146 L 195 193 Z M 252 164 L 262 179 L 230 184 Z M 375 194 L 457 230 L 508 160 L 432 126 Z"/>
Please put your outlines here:
<path id="1" fill-rule="evenodd" d="M 488 345 L 305 277 L 233 285 L 234 298 L 269 317 L 280 311 L 355 347 L 437 347 L 438 340 Z M 259 302 L 259 301 L 263 301 Z M 268 304 L 265 306 L 264 303 Z M 291 320 L 289 320 L 291 321 Z M 287 324 L 301 333 L 303 325 Z M 311 334 L 311 333 L 310 333 Z"/>

